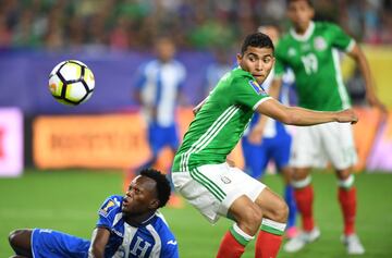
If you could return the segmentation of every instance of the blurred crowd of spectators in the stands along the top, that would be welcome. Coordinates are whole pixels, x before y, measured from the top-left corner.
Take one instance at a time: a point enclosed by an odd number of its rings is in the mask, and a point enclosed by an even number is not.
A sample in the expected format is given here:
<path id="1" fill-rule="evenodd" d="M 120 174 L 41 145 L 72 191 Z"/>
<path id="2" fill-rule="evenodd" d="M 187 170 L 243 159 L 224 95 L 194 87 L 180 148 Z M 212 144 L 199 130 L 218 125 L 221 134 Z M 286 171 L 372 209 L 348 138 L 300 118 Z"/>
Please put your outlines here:
<path id="1" fill-rule="evenodd" d="M 392 0 L 317 0 L 316 20 L 362 42 L 392 44 Z M 1 0 L 0 48 L 148 50 L 162 34 L 182 49 L 232 48 L 264 23 L 287 27 L 286 0 Z"/>

